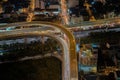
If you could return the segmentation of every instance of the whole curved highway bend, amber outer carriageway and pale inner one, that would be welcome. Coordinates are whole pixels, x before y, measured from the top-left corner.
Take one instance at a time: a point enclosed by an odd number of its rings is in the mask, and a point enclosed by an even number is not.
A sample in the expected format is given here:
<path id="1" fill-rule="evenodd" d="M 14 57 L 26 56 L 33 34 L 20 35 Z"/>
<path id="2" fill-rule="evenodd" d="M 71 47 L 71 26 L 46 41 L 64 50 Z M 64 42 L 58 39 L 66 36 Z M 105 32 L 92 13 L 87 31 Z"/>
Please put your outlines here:
<path id="1" fill-rule="evenodd" d="M 1 27 L 8 28 L 8 27 L 17 27 L 17 26 L 26 26 L 26 25 L 41 25 L 41 26 L 51 26 L 55 29 L 55 31 L 61 31 L 64 33 L 67 38 L 68 42 L 65 41 L 63 45 L 64 50 L 64 79 L 63 80 L 78 80 L 78 66 L 77 66 L 77 55 L 76 55 L 76 48 L 75 48 L 75 39 L 74 36 L 71 34 L 69 30 L 67 30 L 64 26 L 49 23 L 49 22 L 22 22 L 22 23 L 14 23 L 9 24 L 7 26 Z M 21 28 L 21 29 L 14 29 L 14 30 L 6 30 L 4 32 L 0 32 L 0 39 L 17 37 L 17 36 L 27 36 L 27 35 L 48 35 L 52 36 L 53 32 L 47 32 L 46 30 L 41 31 L 38 28 Z M 54 36 L 52 36 L 54 37 Z M 54 37 L 55 38 L 55 37 Z M 59 38 L 60 39 L 60 38 Z M 59 41 L 59 40 L 58 40 Z M 66 45 L 65 45 L 66 44 Z M 67 49 L 66 49 L 67 48 Z"/>

